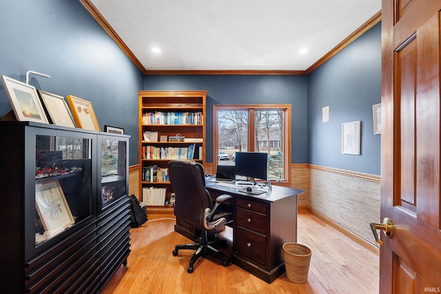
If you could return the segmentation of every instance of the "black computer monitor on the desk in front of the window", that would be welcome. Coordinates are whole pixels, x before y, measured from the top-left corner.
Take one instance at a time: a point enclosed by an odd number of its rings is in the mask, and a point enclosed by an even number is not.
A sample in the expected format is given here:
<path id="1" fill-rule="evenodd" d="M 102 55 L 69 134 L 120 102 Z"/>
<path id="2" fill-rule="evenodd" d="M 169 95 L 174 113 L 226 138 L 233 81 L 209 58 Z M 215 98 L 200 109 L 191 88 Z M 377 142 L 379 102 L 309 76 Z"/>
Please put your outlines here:
<path id="1" fill-rule="evenodd" d="M 236 175 L 267 180 L 268 154 L 260 152 L 236 152 Z"/>

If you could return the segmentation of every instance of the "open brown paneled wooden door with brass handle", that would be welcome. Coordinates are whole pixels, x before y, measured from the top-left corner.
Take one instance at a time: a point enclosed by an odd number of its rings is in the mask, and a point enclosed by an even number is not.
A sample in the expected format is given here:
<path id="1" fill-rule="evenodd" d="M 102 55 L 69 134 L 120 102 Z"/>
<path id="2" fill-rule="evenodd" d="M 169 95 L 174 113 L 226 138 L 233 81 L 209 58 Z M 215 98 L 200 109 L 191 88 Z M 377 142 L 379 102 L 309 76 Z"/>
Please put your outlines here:
<path id="1" fill-rule="evenodd" d="M 440 0 L 382 1 L 380 293 L 439 293 Z"/>

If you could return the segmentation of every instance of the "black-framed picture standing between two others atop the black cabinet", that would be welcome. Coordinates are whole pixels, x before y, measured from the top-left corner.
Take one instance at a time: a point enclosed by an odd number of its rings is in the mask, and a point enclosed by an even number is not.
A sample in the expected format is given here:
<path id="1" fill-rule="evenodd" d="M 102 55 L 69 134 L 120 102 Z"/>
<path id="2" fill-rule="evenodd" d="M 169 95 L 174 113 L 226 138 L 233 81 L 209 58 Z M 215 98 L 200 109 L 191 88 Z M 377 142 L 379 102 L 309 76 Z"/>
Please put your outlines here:
<path id="1" fill-rule="evenodd" d="M 64 127 L 76 127 L 74 117 L 63 96 L 37 90 L 49 123 Z"/>

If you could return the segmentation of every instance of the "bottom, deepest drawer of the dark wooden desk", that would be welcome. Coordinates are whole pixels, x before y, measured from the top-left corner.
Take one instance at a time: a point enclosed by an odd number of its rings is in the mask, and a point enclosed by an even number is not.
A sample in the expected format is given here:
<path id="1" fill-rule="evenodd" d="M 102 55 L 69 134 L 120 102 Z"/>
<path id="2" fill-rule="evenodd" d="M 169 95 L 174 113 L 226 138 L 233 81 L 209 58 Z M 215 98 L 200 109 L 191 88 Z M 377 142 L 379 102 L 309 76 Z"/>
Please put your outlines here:
<path id="1" fill-rule="evenodd" d="M 265 235 L 250 231 L 243 227 L 236 229 L 236 251 L 262 265 L 266 265 L 266 239 Z"/>

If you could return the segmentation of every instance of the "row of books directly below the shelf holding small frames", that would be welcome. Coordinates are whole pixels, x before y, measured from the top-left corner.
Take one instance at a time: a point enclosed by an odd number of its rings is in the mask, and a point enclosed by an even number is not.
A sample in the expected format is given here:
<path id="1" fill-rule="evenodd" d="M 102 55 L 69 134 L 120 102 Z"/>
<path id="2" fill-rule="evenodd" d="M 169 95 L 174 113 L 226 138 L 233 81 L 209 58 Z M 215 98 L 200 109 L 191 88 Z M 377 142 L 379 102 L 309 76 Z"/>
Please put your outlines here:
<path id="1" fill-rule="evenodd" d="M 143 146 L 143 159 L 196 159 L 196 144 L 188 147 L 156 147 Z M 202 146 L 196 151 L 198 159 L 202 158 Z"/>

